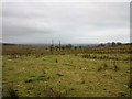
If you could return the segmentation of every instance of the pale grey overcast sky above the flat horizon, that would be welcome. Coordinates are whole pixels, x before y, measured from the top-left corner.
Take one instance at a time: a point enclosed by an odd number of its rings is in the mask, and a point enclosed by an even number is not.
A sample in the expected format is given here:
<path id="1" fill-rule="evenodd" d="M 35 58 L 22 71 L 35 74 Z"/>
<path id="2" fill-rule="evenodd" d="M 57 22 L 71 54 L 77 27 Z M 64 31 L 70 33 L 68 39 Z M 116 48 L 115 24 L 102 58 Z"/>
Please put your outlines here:
<path id="1" fill-rule="evenodd" d="M 129 2 L 4 2 L 2 42 L 130 42 Z"/>

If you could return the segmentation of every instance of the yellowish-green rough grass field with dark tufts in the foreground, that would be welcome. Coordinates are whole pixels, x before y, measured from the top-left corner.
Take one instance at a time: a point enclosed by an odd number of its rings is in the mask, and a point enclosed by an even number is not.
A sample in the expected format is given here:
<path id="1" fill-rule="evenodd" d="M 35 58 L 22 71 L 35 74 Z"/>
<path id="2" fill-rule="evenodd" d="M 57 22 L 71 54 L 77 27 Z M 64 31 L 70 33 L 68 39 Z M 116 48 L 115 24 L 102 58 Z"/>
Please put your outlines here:
<path id="1" fill-rule="evenodd" d="M 6 54 L 3 97 L 129 97 L 130 54 L 121 50 L 127 53 Z"/>

